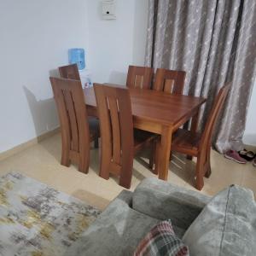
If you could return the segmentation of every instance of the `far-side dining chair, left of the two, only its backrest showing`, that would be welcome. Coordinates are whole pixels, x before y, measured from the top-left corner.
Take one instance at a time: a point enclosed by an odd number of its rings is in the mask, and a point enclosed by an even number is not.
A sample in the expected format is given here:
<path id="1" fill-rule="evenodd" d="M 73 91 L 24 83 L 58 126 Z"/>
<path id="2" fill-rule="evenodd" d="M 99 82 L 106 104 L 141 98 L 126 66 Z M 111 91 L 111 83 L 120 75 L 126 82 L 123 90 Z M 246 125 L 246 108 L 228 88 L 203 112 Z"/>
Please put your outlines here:
<path id="1" fill-rule="evenodd" d="M 129 66 L 126 86 L 129 88 L 150 89 L 152 78 L 152 67 Z"/>

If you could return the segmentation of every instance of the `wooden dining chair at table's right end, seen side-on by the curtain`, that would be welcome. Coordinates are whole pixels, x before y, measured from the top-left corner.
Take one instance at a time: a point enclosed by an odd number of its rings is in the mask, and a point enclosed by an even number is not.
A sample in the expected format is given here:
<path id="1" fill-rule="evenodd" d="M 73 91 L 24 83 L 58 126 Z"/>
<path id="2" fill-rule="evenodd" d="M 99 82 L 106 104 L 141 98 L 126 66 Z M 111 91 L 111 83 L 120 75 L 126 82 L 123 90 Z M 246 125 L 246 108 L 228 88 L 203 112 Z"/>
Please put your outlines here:
<path id="1" fill-rule="evenodd" d="M 212 131 L 218 119 L 218 115 L 224 105 L 224 100 L 230 90 L 230 84 L 225 85 L 218 92 L 212 110 L 207 119 L 207 124 L 202 134 L 193 131 L 179 129 L 172 139 L 172 152 L 176 151 L 197 157 L 195 188 L 201 190 L 204 186 L 203 177 L 210 177 L 211 163 L 210 153 L 212 144 Z"/>

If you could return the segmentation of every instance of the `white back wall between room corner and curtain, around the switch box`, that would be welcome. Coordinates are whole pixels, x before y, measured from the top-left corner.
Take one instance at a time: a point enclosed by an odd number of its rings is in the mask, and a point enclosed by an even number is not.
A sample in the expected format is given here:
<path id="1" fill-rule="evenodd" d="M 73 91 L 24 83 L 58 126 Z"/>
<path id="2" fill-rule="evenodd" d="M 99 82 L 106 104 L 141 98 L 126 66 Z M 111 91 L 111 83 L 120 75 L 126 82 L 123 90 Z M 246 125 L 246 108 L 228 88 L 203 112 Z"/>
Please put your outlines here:
<path id="1" fill-rule="evenodd" d="M 117 20 L 102 20 L 100 0 L 88 0 L 88 10 L 93 81 L 125 84 L 128 66 L 144 63 L 148 0 L 116 1 Z"/>

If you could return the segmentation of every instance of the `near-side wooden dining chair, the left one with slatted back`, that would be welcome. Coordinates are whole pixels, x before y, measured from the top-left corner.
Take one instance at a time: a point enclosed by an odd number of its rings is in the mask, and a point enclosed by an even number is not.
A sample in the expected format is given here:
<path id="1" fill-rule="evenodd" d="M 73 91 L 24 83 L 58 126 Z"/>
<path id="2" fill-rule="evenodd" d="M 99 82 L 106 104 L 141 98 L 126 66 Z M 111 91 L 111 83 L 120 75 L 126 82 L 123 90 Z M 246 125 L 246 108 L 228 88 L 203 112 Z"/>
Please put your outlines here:
<path id="1" fill-rule="evenodd" d="M 61 165 L 70 166 L 72 161 L 80 172 L 87 173 L 90 142 L 98 140 L 99 127 L 87 119 L 82 84 L 79 80 L 49 79 L 61 123 Z"/>

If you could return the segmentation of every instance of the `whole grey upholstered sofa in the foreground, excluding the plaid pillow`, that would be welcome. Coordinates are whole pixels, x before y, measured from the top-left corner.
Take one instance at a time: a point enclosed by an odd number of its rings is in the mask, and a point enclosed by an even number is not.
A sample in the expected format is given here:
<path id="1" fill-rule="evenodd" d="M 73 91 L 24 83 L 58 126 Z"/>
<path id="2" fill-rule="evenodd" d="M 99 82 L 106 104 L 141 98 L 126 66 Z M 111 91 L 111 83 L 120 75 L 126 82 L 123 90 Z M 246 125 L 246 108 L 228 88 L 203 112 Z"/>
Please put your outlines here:
<path id="1" fill-rule="evenodd" d="M 146 178 L 132 193 L 123 190 L 69 247 L 66 255 L 133 255 L 161 220 L 194 256 L 256 255 L 253 192 L 231 185 L 214 197 Z"/>

